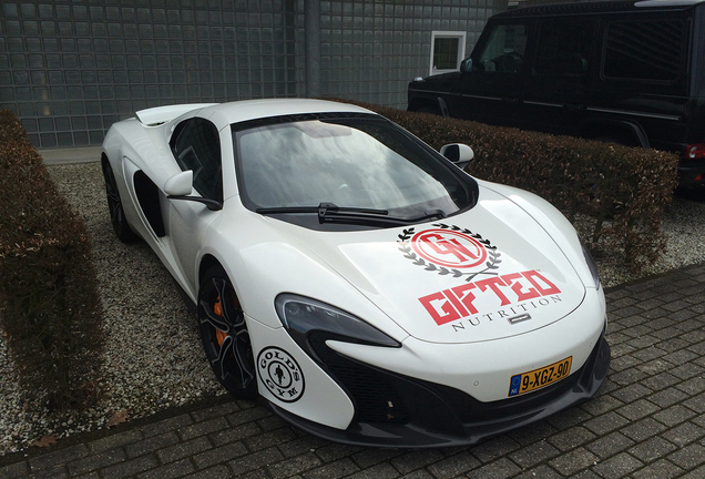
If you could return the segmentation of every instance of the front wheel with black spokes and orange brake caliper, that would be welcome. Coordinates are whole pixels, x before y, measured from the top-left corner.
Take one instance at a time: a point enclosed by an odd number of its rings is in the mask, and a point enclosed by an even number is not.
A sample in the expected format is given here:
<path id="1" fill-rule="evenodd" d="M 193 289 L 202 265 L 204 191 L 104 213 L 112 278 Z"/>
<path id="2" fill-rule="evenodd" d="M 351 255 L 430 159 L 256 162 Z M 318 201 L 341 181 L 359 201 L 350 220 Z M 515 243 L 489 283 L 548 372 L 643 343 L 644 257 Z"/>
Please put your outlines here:
<path id="1" fill-rule="evenodd" d="M 221 266 L 203 276 L 197 317 L 203 349 L 218 383 L 238 399 L 256 398 L 257 376 L 247 320 Z"/>

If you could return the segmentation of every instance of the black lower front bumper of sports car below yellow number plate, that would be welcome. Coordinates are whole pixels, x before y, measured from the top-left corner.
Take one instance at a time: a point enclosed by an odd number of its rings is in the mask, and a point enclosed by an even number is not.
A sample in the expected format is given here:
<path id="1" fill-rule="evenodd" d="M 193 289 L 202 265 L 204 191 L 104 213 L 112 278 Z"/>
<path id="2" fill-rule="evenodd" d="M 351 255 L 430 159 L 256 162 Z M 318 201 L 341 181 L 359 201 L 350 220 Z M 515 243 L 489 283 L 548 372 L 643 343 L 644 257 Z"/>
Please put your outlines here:
<path id="1" fill-rule="evenodd" d="M 355 404 L 347 429 L 323 426 L 269 402 L 274 412 L 325 439 L 376 447 L 468 446 L 541 420 L 591 398 L 610 367 L 604 333 L 585 364 L 566 379 L 523 396 L 481 402 L 458 389 L 349 359 L 325 345 L 316 351 Z"/>

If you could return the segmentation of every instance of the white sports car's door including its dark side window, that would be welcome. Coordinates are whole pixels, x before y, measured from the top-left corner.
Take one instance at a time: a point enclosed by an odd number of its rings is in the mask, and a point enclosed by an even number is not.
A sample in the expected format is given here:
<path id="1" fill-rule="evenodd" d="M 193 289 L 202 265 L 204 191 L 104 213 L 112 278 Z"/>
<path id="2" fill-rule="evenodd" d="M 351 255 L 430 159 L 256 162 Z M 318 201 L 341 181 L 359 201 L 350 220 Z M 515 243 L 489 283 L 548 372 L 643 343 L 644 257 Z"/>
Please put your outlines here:
<path id="1" fill-rule="evenodd" d="M 223 202 L 221 143 L 217 129 L 208 120 L 192 118 L 180 123 L 170 142 L 174 160 L 182 171 L 193 172 L 193 188 L 204 198 Z M 170 198 L 168 238 L 182 273 L 192 287 L 197 282 L 196 258 L 207 232 L 219 211 L 203 203 Z"/>

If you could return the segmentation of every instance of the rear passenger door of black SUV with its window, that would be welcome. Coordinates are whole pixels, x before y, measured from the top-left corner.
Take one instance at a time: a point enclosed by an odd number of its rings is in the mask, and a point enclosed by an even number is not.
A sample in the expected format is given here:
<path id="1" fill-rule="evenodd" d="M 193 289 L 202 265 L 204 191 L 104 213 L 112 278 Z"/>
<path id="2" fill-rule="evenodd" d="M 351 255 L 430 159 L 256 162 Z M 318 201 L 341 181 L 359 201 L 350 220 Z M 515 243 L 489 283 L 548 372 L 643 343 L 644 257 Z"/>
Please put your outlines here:
<path id="1" fill-rule="evenodd" d="M 590 85 L 597 70 L 597 19 L 543 19 L 537 30 L 521 126 L 576 134 L 586 118 Z"/>

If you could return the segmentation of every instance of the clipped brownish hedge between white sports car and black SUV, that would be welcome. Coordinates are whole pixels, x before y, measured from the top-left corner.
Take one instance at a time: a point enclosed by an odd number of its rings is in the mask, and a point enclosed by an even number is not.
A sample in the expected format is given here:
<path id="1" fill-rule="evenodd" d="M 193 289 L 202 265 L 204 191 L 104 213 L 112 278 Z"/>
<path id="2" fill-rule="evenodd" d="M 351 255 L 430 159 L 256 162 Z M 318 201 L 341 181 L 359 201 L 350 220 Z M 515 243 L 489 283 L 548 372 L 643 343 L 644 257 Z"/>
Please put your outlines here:
<path id="1" fill-rule="evenodd" d="M 638 271 L 665 246 L 661 224 L 677 183 L 675 154 L 356 104 L 437 150 L 448 143 L 472 146 L 468 173 L 544 197 L 578 225 L 593 254 L 621 254 Z"/>

